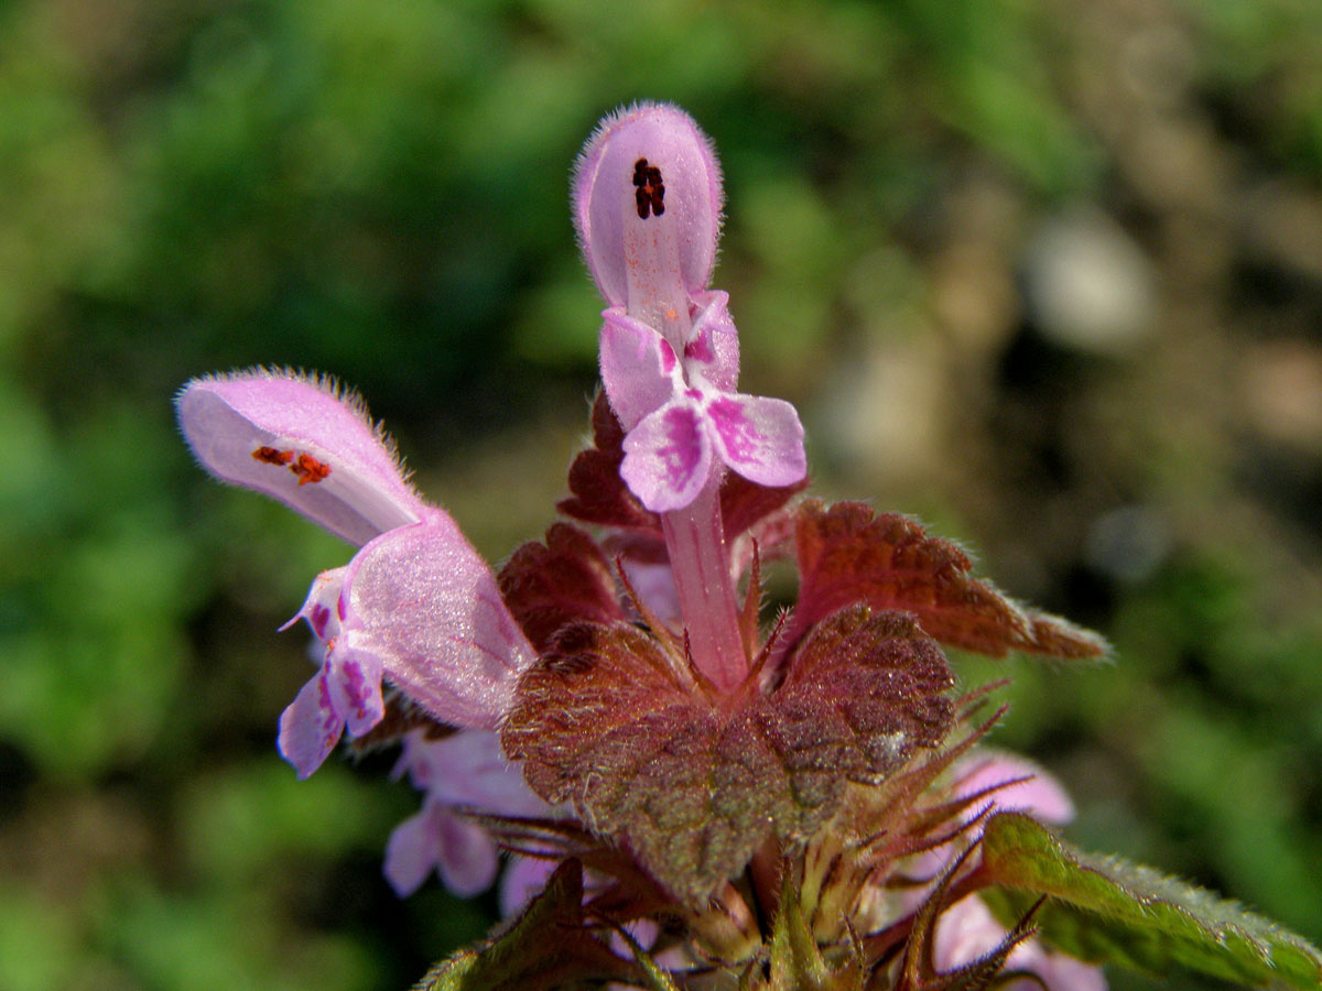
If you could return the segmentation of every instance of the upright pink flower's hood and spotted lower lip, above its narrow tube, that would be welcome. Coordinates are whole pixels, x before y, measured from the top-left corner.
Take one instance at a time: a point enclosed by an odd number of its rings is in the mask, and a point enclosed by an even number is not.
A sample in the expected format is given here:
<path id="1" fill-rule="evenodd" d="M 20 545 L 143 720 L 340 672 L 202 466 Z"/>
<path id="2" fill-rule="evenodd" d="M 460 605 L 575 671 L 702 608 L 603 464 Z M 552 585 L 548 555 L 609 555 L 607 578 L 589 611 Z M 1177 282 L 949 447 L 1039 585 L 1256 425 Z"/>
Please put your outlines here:
<path id="1" fill-rule="evenodd" d="M 579 242 L 611 304 L 602 381 L 627 431 L 620 474 L 654 513 L 693 503 L 722 464 L 772 486 L 808 470 L 795 407 L 735 391 L 738 332 L 707 288 L 720 203 L 711 143 L 666 104 L 605 118 L 575 169 Z"/>

